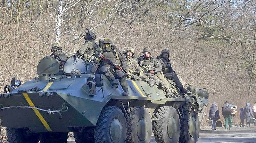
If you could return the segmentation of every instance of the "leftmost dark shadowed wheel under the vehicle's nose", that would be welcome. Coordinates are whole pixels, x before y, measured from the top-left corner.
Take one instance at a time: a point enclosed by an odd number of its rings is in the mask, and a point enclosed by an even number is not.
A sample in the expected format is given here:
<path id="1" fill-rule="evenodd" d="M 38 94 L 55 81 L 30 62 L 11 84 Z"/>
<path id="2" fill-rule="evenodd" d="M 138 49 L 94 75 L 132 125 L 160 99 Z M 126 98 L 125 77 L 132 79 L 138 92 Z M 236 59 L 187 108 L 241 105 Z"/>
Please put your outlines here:
<path id="1" fill-rule="evenodd" d="M 9 143 L 38 143 L 39 134 L 27 128 L 6 128 Z"/>

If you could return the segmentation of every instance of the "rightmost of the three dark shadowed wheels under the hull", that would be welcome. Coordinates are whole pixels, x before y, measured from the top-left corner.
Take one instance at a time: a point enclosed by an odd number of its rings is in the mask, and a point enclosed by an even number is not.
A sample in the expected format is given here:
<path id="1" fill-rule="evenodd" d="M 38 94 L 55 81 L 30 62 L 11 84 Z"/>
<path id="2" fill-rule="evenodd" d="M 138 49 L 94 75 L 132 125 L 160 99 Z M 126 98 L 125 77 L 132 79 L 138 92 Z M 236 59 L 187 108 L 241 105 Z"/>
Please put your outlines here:
<path id="1" fill-rule="evenodd" d="M 89 132 L 86 129 L 74 132 L 76 143 L 94 143 L 94 132 Z"/>

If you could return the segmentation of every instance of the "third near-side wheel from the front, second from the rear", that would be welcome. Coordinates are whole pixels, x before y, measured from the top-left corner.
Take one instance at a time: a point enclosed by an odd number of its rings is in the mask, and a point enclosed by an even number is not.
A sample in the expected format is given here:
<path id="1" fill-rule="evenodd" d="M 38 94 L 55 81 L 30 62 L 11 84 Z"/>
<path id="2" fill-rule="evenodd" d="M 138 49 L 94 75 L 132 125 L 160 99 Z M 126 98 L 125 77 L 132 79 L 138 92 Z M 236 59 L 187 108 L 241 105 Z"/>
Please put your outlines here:
<path id="1" fill-rule="evenodd" d="M 171 106 L 164 106 L 158 109 L 156 118 L 153 121 L 154 136 L 157 143 L 177 143 L 180 134 L 179 115 Z"/>

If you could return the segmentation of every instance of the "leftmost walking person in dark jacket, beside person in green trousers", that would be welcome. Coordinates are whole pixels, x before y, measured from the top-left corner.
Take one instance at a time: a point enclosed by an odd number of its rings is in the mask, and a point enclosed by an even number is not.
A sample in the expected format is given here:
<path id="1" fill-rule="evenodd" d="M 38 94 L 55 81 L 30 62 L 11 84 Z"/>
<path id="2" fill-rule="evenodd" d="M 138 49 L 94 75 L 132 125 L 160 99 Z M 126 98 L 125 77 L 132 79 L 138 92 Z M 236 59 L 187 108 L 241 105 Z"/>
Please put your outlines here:
<path id="1" fill-rule="evenodd" d="M 211 130 L 214 131 L 216 130 L 216 120 L 219 119 L 219 109 L 217 107 L 217 103 L 213 102 L 209 111 L 209 119 L 212 120 L 212 126 Z"/>

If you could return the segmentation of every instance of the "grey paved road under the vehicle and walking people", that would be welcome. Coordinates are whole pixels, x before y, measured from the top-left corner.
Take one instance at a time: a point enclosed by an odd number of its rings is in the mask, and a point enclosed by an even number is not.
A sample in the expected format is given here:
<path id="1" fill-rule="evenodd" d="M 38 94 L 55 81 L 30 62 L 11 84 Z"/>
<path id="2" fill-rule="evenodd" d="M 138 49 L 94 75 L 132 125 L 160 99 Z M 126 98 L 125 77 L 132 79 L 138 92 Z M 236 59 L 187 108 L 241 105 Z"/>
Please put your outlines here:
<path id="1" fill-rule="evenodd" d="M 68 143 L 75 143 L 72 138 L 69 139 Z M 150 143 L 156 143 L 154 136 Z M 256 127 L 234 127 L 227 131 L 223 127 L 216 131 L 201 130 L 197 143 L 256 143 Z"/>

